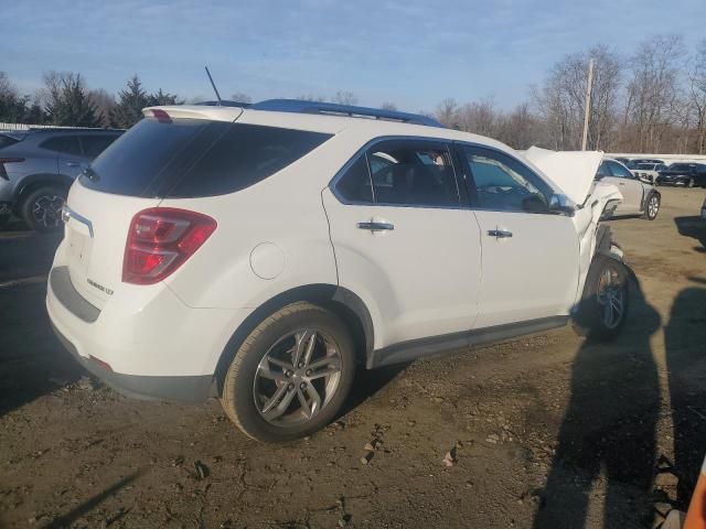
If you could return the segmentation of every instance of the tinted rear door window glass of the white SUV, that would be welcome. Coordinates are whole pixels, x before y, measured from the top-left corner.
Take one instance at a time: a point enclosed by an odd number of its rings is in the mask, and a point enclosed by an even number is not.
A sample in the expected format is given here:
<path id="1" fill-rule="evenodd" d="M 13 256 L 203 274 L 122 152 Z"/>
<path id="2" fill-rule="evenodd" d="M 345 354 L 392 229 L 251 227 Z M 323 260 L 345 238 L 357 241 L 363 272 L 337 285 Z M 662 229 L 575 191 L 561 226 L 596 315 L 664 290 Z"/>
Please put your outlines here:
<path id="1" fill-rule="evenodd" d="M 459 207 L 446 143 L 385 140 L 367 149 L 335 185 L 345 202 L 388 206 Z"/>

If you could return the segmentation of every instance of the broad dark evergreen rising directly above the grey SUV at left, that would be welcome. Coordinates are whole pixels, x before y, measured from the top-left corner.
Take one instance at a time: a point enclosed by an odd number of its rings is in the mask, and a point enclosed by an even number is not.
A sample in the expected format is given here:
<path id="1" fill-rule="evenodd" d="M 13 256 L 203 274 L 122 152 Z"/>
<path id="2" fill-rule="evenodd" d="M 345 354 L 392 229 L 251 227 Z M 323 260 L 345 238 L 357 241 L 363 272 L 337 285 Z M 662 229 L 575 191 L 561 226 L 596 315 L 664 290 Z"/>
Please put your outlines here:
<path id="1" fill-rule="evenodd" d="M 90 102 L 81 74 L 64 74 L 46 106 L 52 125 L 68 127 L 100 127 L 96 107 Z"/>

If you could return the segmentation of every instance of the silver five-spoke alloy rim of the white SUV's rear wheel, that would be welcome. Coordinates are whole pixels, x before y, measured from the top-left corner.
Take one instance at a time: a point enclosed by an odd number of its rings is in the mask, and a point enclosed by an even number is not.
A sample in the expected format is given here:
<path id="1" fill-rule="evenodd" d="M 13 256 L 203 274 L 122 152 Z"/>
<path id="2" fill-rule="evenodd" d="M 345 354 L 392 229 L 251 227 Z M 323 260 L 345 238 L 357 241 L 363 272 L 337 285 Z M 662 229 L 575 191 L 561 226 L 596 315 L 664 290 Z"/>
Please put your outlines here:
<path id="1" fill-rule="evenodd" d="M 257 366 L 255 407 L 279 427 L 310 421 L 335 395 L 341 365 L 338 344 L 323 331 L 303 328 L 282 336 Z"/>

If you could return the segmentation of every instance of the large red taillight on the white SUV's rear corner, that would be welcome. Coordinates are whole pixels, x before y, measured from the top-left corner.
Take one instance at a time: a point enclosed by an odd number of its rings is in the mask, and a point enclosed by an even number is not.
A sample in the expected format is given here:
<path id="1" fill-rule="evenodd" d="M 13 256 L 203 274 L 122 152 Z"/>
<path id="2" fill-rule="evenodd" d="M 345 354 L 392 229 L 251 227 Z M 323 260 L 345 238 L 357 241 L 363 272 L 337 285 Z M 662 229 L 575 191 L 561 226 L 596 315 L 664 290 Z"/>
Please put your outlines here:
<path id="1" fill-rule="evenodd" d="M 132 217 L 122 260 L 122 281 L 152 284 L 181 267 L 216 229 L 201 213 L 172 207 L 143 209 Z"/>

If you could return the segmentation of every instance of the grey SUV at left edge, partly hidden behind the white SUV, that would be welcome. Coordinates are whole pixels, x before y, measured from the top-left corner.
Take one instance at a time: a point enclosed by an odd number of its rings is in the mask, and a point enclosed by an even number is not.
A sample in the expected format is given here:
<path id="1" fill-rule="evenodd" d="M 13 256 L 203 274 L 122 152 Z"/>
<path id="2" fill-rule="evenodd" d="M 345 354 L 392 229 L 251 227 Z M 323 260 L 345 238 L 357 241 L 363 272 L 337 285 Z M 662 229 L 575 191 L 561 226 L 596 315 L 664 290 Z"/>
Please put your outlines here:
<path id="1" fill-rule="evenodd" d="M 74 179 L 121 133 L 40 129 L 0 134 L 0 225 L 15 214 L 38 231 L 58 229 Z"/>

